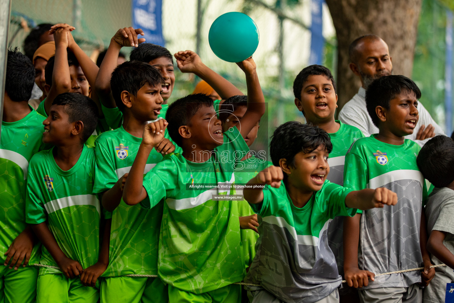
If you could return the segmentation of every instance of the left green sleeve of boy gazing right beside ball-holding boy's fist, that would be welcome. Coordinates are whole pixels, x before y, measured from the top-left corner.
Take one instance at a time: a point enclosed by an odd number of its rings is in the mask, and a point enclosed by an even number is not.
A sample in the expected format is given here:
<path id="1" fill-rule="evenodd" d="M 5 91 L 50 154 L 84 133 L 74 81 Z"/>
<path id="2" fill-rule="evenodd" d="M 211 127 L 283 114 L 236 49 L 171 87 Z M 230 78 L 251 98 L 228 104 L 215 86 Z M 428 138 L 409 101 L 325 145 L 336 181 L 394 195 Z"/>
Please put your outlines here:
<path id="1" fill-rule="evenodd" d="M 93 193 L 100 194 L 111 189 L 118 181 L 113 155 L 104 148 L 104 138 L 95 141 L 94 154 L 96 165 L 94 170 Z"/>

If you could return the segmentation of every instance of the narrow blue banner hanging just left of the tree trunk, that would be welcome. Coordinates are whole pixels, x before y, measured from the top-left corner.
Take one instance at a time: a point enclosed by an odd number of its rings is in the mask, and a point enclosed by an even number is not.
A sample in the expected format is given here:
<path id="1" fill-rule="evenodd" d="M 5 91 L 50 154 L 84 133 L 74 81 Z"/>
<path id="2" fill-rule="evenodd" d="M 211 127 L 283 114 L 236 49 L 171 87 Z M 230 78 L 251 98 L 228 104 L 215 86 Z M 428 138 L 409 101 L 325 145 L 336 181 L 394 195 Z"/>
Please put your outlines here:
<path id="1" fill-rule="evenodd" d="M 323 18 L 322 18 L 323 0 L 311 0 L 311 56 L 309 57 L 309 65 L 321 65 L 323 58 L 323 46 L 325 39 L 323 38 Z"/>

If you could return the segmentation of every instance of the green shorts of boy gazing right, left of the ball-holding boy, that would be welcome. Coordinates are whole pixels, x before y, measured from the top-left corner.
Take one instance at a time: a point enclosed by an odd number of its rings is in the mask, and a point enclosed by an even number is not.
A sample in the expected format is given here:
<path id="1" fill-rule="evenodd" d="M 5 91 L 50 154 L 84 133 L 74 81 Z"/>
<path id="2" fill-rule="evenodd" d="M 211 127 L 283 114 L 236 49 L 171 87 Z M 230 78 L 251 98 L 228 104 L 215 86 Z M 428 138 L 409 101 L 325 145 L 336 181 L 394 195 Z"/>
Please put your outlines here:
<path id="1" fill-rule="evenodd" d="M 160 278 L 105 277 L 101 303 L 167 303 L 168 290 Z"/>

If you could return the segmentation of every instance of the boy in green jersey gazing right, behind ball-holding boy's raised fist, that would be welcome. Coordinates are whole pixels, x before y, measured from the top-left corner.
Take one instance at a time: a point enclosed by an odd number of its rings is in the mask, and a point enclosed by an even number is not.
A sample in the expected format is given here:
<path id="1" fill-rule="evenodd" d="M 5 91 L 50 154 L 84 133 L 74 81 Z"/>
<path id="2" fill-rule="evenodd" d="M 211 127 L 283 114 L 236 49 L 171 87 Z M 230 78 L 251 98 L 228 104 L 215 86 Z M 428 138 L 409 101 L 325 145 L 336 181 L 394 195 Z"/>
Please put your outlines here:
<path id="1" fill-rule="evenodd" d="M 107 263 L 95 274 L 101 282 L 101 302 L 167 302 L 168 290 L 159 278 L 124 277 L 128 274 L 158 273 L 158 240 L 163 205 L 143 211 L 121 200 L 124 180 L 142 142 L 147 121 L 156 120 L 162 110 L 164 79 L 156 68 L 140 61 L 127 61 L 112 73 L 112 93 L 123 112 L 123 125 L 101 134 L 95 142 L 96 178 L 94 193 L 110 213 L 106 229 Z M 168 139 L 156 144 L 142 174 L 175 147 Z M 159 153 L 161 152 L 161 154 Z M 100 259 L 104 259 L 100 258 Z"/>

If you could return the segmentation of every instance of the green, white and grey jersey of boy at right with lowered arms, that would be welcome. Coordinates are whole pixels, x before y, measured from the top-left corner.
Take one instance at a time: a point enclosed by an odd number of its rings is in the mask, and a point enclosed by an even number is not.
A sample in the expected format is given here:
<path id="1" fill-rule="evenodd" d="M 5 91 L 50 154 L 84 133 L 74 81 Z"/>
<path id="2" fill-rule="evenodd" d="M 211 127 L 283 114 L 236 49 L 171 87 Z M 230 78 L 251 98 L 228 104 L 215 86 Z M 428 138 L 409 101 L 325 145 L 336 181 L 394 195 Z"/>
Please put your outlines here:
<path id="1" fill-rule="evenodd" d="M 358 265 L 372 273 L 388 273 L 423 266 L 419 226 L 427 198 L 424 177 L 416 165 L 421 148 L 405 139 L 393 145 L 370 137 L 358 139 L 345 156 L 344 185 L 355 190 L 385 187 L 397 194 L 394 206 L 363 211 L 360 221 Z M 421 273 L 375 277 L 363 289 L 409 287 Z"/>

